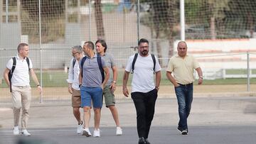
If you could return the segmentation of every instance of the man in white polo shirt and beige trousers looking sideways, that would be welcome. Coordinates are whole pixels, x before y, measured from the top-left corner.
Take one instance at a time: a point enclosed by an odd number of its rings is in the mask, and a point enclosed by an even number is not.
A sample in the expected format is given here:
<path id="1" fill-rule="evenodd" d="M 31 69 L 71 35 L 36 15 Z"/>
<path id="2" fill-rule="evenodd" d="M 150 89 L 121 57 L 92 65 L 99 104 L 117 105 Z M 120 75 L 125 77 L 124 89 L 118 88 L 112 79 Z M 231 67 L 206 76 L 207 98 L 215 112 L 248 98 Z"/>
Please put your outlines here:
<path id="1" fill-rule="evenodd" d="M 28 59 L 28 61 L 27 61 Z M 9 72 L 12 70 L 14 60 L 11 58 L 6 64 L 6 70 L 4 70 L 4 79 L 6 84 L 11 87 L 11 96 L 14 106 L 14 135 L 18 135 L 18 121 L 20 117 L 20 111 L 22 108 L 21 116 L 21 133 L 26 136 L 30 136 L 26 130 L 28 123 L 28 109 L 31 104 L 31 86 L 29 84 L 29 72 L 33 81 L 37 84 L 38 91 L 41 93 L 42 88 L 38 82 L 35 72 L 33 71 L 33 65 L 28 58 L 28 44 L 20 43 L 18 45 L 18 55 L 15 57 L 16 67 L 9 81 Z"/>

